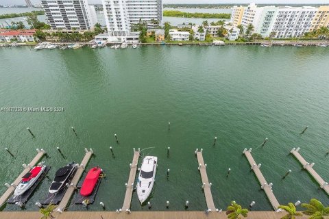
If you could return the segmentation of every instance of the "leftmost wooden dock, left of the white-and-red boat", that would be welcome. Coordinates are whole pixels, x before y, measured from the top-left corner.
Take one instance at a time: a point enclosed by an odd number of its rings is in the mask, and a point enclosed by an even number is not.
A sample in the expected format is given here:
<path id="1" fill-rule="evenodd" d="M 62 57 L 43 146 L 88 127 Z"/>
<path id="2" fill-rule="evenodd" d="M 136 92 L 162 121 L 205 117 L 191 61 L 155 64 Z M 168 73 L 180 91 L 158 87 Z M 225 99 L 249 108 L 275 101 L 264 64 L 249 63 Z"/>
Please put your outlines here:
<path id="1" fill-rule="evenodd" d="M 1 196 L 0 207 L 8 200 L 8 198 L 10 198 L 10 196 L 14 192 L 16 186 L 19 185 L 19 183 L 21 182 L 23 176 L 25 174 L 27 174 L 27 172 L 29 172 L 29 170 L 31 170 L 31 168 L 36 166 L 36 164 L 38 164 L 38 161 L 43 157 L 43 155 L 45 155 L 45 151 L 43 149 L 41 149 L 41 150 L 36 149 L 36 151 L 38 152 L 36 157 L 34 157 L 34 159 L 32 159 L 32 162 L 27 164 L 26 168 L 23 170 L 23 172 L 21 172 L 19 177 L 17 177 L 17 179 L 15 179 L 15 181 L 8 187 L 8 190 L 6 190 L 5 193 Z"/>

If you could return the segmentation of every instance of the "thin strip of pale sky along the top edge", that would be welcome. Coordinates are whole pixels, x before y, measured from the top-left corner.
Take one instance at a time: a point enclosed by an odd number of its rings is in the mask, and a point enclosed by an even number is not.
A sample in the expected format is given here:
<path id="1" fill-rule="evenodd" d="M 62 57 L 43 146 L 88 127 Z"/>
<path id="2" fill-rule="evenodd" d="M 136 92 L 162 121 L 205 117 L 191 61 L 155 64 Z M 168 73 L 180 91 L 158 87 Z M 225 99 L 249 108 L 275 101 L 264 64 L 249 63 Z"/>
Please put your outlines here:
<path id="1" fill-rule="evenodd" d="M 32 3 L 40 3 L 40 0 L 32 0 Z M 329 0 L 162 0 L 163 3 L 324 3 L 329 5 Z M 101 3 L 101 0 L 88 0 L 88 3 Z M 0 5 L 23 5 L 25 0 L 0 0 Z"/>

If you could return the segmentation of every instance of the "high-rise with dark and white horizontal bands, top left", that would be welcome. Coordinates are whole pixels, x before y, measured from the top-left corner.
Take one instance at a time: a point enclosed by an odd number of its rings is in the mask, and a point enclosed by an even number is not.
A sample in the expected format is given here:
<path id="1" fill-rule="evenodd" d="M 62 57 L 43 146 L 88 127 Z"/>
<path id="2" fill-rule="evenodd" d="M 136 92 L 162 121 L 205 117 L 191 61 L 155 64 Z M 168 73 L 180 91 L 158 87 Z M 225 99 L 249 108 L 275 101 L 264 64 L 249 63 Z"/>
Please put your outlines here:
<path id="1" fill-rule="evenodd" d="M 92 29 L 97 22 L 94 6 L 87 0 L 42 0 L 51 29 Z"/>

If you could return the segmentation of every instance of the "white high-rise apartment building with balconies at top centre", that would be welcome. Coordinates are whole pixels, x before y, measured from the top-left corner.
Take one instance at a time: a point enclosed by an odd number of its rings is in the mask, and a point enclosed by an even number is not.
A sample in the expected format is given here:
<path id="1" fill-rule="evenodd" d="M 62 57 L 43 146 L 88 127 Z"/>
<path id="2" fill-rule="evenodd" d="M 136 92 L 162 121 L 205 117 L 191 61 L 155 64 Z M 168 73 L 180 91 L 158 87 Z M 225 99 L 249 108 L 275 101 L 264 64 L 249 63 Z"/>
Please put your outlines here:
<path id="1" fill-rule="evenodd" d="M 162 0 L 102 0 L 110 36 L 127 36 L 131 25 L 140 21 L 155 27 L 162 22 Z"/>

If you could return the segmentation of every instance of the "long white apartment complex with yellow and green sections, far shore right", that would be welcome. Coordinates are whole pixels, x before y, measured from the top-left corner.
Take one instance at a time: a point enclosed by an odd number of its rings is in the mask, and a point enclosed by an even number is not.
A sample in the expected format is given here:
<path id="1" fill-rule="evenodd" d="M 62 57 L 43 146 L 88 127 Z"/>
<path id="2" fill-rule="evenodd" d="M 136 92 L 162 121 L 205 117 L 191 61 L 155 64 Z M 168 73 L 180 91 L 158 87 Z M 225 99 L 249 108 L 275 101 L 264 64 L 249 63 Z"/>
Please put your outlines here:
<path id="1" fill-rule="evenodd" d="M 240 6 L 241 7 L 241 6 Z M 238 7 L 234 6 L 230 22 L 239 25 Z M 241 11 L 241 10 L 240 10 Z M 308 31 L 329 25 L 329 6 L 257 7 L 251 3 L 243 10 L 241 24 L 244 29 L 253 25 L 252 33 L 274 38 L 300 37 Z"/>

